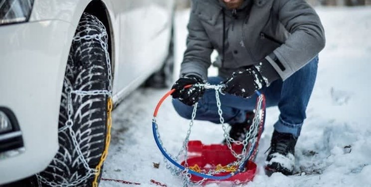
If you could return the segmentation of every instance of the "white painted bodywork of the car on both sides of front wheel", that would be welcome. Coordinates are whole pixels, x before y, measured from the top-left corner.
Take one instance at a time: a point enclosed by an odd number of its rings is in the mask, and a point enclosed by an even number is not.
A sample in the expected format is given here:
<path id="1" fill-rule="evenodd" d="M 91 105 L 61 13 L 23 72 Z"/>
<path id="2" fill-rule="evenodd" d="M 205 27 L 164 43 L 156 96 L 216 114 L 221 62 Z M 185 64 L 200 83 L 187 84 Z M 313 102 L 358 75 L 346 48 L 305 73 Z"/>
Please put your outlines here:
<path id="1" fill-rule="evenodd" d="M 114 103 L 162 66 L 174 0 L 102 0 L 110 21 Z M 35 0 L 27 23 L 0 25 L 0 106 L 11 109 L 25 152 L 0 160 L 0 184 L 43 171 L 58 150 L 69 49 L 91 0 Z"/>

